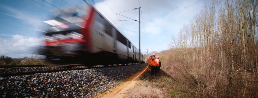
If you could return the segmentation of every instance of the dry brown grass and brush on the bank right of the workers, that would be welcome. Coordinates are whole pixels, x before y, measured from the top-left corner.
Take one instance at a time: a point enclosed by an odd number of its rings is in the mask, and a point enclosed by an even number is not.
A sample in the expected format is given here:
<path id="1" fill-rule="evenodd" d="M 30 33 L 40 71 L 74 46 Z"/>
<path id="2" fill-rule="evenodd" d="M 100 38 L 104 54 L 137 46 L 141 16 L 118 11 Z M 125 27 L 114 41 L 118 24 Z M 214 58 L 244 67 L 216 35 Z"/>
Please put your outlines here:
<path id="1" fill-rule="evenodd" d="M 154 77 L 147 71 L 144 72 L 139 77 L 142 83 L 139 87 L 130 89 L 127 92 L 128 97 L 257 98 L 257 74 L 243 74 L 242 71 L 225 71 L 213 67 L 194 68 L 192 58 L 186 58 L 187 52 L 180 53 L 181 50 L 173 49 L 157 53 L 163 57 L 161 74 Z M 153 93 L 159 91 L 162 93 Z"/>

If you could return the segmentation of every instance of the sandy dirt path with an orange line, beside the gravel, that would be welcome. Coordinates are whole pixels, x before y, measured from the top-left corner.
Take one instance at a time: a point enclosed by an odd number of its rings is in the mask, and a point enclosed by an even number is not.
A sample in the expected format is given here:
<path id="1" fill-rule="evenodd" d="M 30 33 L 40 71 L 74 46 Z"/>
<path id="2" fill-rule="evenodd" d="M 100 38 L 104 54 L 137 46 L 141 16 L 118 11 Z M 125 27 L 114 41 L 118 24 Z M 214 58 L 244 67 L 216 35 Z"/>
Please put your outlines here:
<path id="1" fill-rule="evenodd" d="M 147 67 L 147 66 L 146 66 Z M 123 88 L 126 84 L 128 84 L 131 80 L 133 80 L 137 75 L 139 75 L 142 71 L 146 69 L 146 67 L 142 68 L 141 71 L 137 71 L 135 74 L 132 74 L 131 76 L 127 77 L 121 84 L 108 89 L 105 93 L 97 93 L 97 98 L 110 98 L 114 93 L 116 93 L 119 89 Z M 140 77 L 140 76 L 139 76 Z M 126 91 L 128 89 L 135 88 L 139 84 L 139 79 L 135 79 L 133 82 L 131 82 L 129 85 L 127 85 L 124 89 L 122 89 L 118 94 L 116 94 L 112 98 L 124 98 L 126 97 Z M 96 98 L 96 96 L 92 98 Z"/>

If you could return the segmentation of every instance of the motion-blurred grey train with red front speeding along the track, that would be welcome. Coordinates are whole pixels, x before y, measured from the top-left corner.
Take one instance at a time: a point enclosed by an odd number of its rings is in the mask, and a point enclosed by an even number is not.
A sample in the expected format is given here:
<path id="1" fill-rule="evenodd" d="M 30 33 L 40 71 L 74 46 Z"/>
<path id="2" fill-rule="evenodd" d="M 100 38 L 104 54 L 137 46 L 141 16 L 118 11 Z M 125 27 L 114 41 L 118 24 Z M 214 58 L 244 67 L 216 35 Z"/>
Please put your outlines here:
<path id="1" fill-rule="evenodd" d="M 93 6 L 76 6 L 53 13 L 42 47 L 54 64 L 114 65 L 136 64 L 139 51 Z M 141 53 L 141 63 L 145 57 Z"/>

